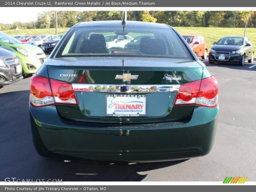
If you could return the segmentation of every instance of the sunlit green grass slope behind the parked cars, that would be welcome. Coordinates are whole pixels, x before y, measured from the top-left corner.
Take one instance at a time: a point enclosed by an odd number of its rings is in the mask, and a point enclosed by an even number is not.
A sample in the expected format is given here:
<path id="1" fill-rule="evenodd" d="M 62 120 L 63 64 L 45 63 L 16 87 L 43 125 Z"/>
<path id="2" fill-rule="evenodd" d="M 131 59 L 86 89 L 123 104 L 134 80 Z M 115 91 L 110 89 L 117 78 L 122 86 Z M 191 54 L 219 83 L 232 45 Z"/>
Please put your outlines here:
<path id="1" fill-rule="evenodd" d="M 207 41 L 208 50 L 212 43 L 218 41 L 222 36 L 243 36 L 244 28 L 205 28 L 205 27 L 174 27 L 181 35 L 202 35 Z M 68 28 L 58 28 L 59 34 L 64 34 Z M 20 29 L 2 31 L 9 35 L 44 35 L 55 34 L 55 28 L 46 29 Z M 256 28 L 247 28 L 246 36 L 252 41 L 256 49 Z"/>

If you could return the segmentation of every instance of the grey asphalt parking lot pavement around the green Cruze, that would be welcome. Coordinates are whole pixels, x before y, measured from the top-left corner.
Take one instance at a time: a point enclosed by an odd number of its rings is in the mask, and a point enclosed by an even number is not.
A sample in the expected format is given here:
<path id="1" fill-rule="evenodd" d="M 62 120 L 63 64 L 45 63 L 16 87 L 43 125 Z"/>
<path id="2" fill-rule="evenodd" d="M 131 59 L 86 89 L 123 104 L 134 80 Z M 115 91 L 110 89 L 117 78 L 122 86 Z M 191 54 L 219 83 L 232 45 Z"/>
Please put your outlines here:
<path id="1" fill-rule="evenodd" d="M 37 155 L 29 125 L 30 78 L 0 89 L 0 181 L 223 181 L 248 177 L 256 181 L 256 63 L 209 64 L 219 81 L 220 113 L 215 143 L 207 156 L 145 164 L 48 159 Z"/>

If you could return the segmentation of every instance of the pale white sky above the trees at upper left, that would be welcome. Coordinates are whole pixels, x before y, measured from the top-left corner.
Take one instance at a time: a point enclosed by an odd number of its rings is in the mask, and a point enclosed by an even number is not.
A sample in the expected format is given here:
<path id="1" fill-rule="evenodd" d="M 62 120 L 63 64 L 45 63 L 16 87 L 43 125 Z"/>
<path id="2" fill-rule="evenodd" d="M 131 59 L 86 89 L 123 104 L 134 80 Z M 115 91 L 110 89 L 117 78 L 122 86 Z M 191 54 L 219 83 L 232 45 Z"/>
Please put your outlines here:
<path id="1" fill-rule="evenodd" d="M 5 24 L 12 24 L 15 21 L 20 22 L 29 22 L 29 21 L 36 21 L 37 13 L 42 12 L 38 11 L 37 7 L 31 8 L 28 10 L 24 10 L 20 7 L 20 10 L 10 10 L 1 8 L 0 11 L 0 23 Z"/>

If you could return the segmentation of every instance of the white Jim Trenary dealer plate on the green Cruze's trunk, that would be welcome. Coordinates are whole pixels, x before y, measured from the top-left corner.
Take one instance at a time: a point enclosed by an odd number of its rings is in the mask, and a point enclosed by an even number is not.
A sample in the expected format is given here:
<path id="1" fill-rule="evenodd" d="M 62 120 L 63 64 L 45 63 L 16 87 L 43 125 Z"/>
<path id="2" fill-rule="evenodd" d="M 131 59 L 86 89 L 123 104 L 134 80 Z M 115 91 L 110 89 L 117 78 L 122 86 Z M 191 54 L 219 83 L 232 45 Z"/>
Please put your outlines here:
<path id="1" fill-rule="evenodd" d="M 147 96 L 106 95 L 106 116 L 145 117 L 147 116 Z"/>

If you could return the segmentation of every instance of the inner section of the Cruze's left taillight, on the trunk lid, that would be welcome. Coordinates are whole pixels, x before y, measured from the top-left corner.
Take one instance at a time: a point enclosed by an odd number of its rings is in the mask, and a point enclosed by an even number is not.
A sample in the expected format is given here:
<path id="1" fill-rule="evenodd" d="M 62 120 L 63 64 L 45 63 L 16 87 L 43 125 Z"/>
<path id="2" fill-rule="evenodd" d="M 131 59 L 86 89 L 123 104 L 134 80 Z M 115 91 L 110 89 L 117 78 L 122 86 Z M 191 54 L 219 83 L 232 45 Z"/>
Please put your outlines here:
<path id="1" fill-rule="evenodd" d="M 75 92 L 70 83 L 50 79 L 55 103 L 77 105 Z"/>

